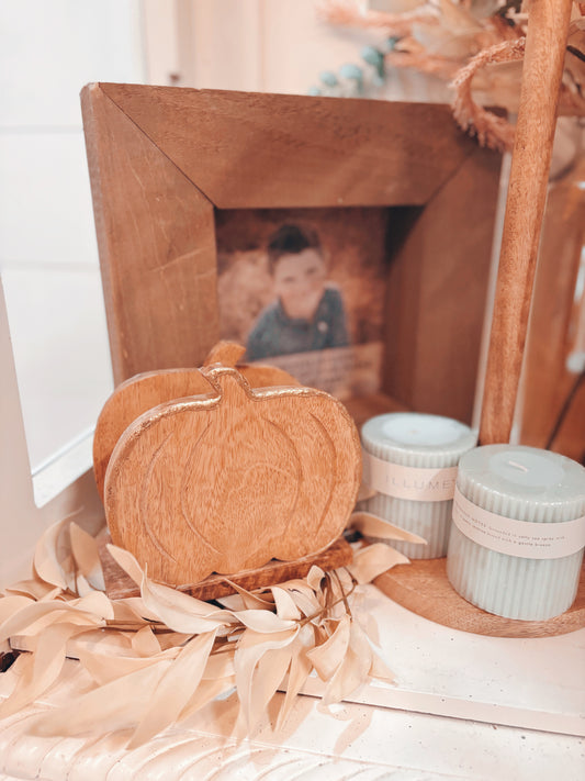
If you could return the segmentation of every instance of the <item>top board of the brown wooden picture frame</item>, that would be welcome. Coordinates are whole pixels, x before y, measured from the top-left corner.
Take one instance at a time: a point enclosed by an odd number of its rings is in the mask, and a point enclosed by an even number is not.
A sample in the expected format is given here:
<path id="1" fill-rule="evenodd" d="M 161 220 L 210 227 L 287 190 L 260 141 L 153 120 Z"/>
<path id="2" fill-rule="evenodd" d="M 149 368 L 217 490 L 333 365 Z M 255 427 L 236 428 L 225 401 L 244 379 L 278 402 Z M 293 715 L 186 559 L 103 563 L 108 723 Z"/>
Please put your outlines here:
<path id="1" fill-rule="evenodd" d="M 474 144 L 447 105 L 99 87 L 220 209 L 423 204 Z"/>

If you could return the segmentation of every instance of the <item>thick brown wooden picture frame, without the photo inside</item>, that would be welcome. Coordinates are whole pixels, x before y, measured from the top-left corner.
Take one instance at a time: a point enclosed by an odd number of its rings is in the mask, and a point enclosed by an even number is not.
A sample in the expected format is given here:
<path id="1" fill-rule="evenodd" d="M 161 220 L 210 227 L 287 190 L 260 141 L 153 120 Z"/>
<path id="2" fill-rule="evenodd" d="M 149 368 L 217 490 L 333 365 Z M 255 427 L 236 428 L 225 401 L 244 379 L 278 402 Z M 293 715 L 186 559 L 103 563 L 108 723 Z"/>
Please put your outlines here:
<path id="1" fill-rule="evenodd" d="M 500 156 L 448 107 L 113 83 L 81 103 L 116 383 L 217 341 L 217 209 L 383 205 L 371 410 L 471 420 Z"/>

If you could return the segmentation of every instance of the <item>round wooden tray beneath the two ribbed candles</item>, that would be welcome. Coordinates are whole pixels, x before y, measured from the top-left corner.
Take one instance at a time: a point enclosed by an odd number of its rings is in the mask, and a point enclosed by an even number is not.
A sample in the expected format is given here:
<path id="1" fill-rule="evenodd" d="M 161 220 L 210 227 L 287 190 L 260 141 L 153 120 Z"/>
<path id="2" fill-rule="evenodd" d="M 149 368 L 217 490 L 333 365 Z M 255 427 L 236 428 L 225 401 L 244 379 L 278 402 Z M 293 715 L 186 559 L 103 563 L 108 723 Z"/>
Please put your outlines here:
<path id="1" fill-rule="evenodd" d="M 549 621 L 517 621 L 486 613 L 460 596 L 447 579 L 447 559 L 400 565 L 375 579 L 375 585 L 403 607 L 449 626 L 492 637 L 552 637 L 585 626 L 585 566 L 572 607 Z"/>

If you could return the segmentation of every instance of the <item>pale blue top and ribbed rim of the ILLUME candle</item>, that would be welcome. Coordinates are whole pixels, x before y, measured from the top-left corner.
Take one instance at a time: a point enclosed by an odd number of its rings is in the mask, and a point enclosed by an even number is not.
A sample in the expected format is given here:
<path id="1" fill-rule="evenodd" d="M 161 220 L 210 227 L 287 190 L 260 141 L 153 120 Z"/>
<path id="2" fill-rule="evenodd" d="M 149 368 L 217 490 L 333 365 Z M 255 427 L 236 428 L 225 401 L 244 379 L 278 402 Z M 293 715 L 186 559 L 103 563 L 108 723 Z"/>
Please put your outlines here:
<path id="1" fill-rule="evenodd" d="M 441 415 L 392 412 L 370 419 L 361 429 L 365 450 L 409 467 L 452 467 L 475 445 L 476 436 L 459 421 Z"/>

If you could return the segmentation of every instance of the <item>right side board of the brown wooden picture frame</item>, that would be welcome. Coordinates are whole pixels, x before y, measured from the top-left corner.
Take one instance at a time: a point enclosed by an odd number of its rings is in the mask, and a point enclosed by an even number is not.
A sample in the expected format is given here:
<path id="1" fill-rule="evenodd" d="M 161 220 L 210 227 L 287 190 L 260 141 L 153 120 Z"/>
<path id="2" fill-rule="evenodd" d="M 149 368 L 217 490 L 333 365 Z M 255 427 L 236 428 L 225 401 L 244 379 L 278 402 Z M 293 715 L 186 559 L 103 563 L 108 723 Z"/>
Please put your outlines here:
<path id="1" fill-rule="evenodd" d="M 500 159 L 476 148 L 423 212 L 398 212 L 387 279 L 384 392 L 471 423 Z"/>

